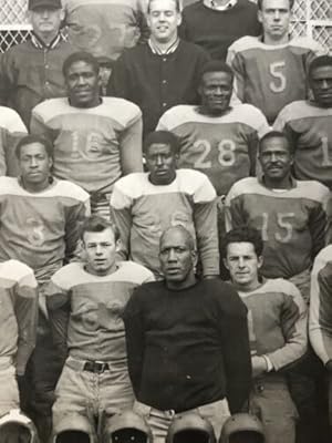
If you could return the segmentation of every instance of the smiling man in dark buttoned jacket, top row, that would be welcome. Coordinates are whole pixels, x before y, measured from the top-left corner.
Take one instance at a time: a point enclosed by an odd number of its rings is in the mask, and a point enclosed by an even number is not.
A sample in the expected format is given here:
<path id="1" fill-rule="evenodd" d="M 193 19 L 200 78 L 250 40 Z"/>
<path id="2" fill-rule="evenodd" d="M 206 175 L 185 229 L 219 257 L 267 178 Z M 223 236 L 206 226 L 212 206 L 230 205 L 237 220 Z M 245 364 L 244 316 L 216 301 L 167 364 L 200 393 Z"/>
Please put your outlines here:
<path id="1" fill-rule="evenodd" d="M 180 22 L 179 0 L 148 0 L 148 42 L 125 50 L 112 72 L 107 94 L 141 107 L 144 134 L 155 130 L 169 107 L 199 102 L 199 71 L 209 55 L 178 39 Z"/>

